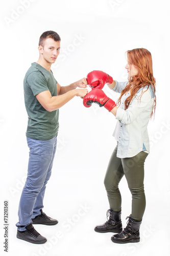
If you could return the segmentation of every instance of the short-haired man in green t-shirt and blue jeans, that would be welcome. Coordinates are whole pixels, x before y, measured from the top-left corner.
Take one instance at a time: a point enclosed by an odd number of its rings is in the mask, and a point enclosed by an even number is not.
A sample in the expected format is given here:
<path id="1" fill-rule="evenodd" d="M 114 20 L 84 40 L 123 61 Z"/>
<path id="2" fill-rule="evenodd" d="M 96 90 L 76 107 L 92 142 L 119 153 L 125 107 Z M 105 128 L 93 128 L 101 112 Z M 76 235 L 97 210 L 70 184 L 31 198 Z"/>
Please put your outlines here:
<path id="1" fill-rule="evenodd" d="M 61 87 L 51 71 L 60 53 L 60 36 L 44 32 L 39 39 L 39 59 L 32 63 L 23 81 L 28 113 L 27 143 L 30 148 L 28 176 L 23 187 L 16 224 L 17 238 L 34 244 L 47 240 L 32 224 L 56 225 L 57 220 L 42 211 L 47 181 L 50 179 L 59 129 L 59 108 L 75 96 L 84 97 L 88 91 L 86 78 Z M 82 89 L 76 89 L 77 87 Z"/>

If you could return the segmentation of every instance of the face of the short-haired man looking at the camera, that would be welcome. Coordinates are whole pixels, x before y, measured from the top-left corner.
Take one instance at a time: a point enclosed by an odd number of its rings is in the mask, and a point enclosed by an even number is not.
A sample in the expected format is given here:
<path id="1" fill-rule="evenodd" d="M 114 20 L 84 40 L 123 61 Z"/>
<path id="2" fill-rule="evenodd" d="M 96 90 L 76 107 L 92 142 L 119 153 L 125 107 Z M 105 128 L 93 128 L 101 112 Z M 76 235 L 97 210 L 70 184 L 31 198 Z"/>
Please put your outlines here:
<path id="1" fill-rule="evenodd" d="M 55 41 L 53 38 L 47 38 L 44 41 L 44 46 L 39 50 L 40 54 L 46 62 L 54 63 L 60 53 L 60 41 Z"/>

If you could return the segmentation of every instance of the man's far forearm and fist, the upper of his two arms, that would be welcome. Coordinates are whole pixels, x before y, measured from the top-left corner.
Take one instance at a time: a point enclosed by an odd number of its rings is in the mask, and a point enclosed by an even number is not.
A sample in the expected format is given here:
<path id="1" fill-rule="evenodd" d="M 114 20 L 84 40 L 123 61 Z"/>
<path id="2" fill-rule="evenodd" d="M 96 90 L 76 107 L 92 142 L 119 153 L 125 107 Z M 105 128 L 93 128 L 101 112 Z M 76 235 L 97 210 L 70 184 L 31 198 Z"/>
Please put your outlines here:
<path id="1" fill-rule="evenodd" d="M 75 90 L 77 87 L 86 88 L 87 87 L 86 78 L 83 78 L 83 79 L 81 79 L 77 82 L 71 83 L 69 86 L 60 86 L 60 84 L 57 83 L 57 95 L 62 95 L 62 94 L 67 93 L 71 90 Z"/>

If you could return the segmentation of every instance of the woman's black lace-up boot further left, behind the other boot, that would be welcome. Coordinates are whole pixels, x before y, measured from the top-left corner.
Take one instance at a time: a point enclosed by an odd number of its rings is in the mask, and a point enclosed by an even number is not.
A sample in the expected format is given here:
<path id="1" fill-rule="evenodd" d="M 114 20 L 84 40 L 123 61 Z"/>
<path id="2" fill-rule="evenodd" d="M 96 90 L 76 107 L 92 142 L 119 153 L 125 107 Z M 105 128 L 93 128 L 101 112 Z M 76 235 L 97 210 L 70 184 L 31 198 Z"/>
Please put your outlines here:
<path id="1" fill-rule="evenodd" d="M 109 216 L 110 215 L 110 216 Z M 96 226 L 94 230 L 100 233 L 113 232 L 119 233 L 122 231 L 121 211 L 107 210 L 107 220 L 103 225 Z"/>

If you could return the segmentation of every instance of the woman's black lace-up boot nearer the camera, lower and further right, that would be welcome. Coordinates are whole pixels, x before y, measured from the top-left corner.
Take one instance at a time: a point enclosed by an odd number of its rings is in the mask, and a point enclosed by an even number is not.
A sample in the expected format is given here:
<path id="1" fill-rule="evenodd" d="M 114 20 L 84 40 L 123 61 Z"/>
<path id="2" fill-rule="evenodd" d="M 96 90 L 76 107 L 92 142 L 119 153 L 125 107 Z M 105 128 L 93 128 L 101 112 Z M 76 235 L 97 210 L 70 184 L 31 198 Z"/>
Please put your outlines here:
<path id="1" fill-rule="evenodd" d="M 132 219 L 131 215 L 128 216 L 127 226 L 119 234 L 114 234 L 111 237 L 113 243 L 126 244 L 126 243 L 137 243 L 140 241 L 139 228 L 141 221 L 136 221 Z"/>

